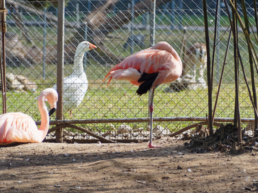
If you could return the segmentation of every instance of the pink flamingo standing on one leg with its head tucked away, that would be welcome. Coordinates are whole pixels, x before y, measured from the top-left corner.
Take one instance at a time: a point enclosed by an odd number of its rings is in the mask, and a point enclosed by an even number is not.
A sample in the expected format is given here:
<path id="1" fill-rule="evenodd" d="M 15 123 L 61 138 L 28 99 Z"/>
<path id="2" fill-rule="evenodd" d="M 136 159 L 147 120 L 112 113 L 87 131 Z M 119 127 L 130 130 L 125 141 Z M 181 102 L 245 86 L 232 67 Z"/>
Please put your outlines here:
<path id="1" fill-rule="evenodd" d="M 158 42 L 151 48 L 141 50 L 128 56 L 121 63 L 114 66 L 104 80 L 110 75 L 108 83 L 112 78 L 127 80 L 139 86 L 136 93 L 142 95 L 152 89 L 150 99 L 150 142 L 149 147 L 160 147 L 152 145 L 152 113 L 154 90 L 162 83 L 176 80 L 182 74 L 182 62 L 179 55 L 166 42 Z"/>

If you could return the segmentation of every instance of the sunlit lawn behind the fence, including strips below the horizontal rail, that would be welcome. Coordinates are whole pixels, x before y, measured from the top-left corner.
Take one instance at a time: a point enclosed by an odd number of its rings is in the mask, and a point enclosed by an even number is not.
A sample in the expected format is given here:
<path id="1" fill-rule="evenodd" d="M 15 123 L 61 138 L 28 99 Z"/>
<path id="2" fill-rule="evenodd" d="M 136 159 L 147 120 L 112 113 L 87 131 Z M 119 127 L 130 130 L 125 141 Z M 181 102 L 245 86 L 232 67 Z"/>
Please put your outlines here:
<path id="1" fill-rule="evenodd" d="M 107 67 L 91 65 L 86 69 L 88 74 L 89 89 L 83 103 L 78 109 L 74 110 L 74 116 L 69 118 L 67 112 L 64 113 L 66 119 L 102 119 L 102 118 L 135 118 L 148 117 L 148 95 L 138 96 L 135 91 L 136 86 L 124 81 L 111 81 L 107 86 L 107 81 L 102 82 L 106 75 Z M 99 78 L 97 78 L 99 76 Z M 42 79 L 41 79 L 42 80 Z M 40 82 L 40 80 L 37 80 Z M 51 82 L 52 81 L 52 82 Z M 39 86 L 36 92 L 7 92 L 7 111 L 23 112 L 40 120 L 37 108 L 37 99 L 40 91 L 53 85 L 53 80 L 45 80 L 44 84 Z M 55 82 L 55 80 L 54 80 Z M 208 97 L 207 89 L 181 91 L 178 93 L 165 93 L 168 84 L 159 86 L 155 91 L 154 99 L 154 116 L 155 117 L 176 117 L 176 116 L 193 116 L 205 117 L 208 114 Z M 213 105 L 217 85 L 214 84 Z M 234 84 L 223 84 L 216 109 L 216 117 L 233 117 L 235 89 Z M 2 98 L 0 99 L 2 103 Z M 253 118 L 251 102 L 248 97 L 246 86 L 241 84 L 240 87 L 240 113 L 242 118 Z M 54 120 L 54 118 L 51 118 Z M 171 131 L 186 127 L 190 122 L 177 123 L 156 123 L 162 125 Z M 81 125 L 92 131 L 103 132 L 112 129 L 110 124 L 86 124 Z M 113 123 L 115 127 L 119 124 Z M 130 123 L 133 128 L 147 127 L 147 123 Z"/>

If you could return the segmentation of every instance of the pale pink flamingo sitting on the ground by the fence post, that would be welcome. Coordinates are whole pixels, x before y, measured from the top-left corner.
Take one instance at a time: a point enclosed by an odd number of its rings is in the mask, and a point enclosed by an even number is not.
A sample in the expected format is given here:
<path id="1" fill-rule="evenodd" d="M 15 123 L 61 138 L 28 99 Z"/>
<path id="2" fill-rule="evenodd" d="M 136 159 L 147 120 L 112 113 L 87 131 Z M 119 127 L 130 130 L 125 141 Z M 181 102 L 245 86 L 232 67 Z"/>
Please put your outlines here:
<path id="1" fill-rule="evenodd" d="M 38 97 L 38 109 L 41 115 L 39 129 L 35 121 L 28 115 L 21 112 L 5 113 L 0 116 L 0 146 L 7 146 L 15 143 L 39 143 L 46 137 L 49 130 L 49 116 L 55 112 L 57 107 L 57 91 L 45 89 Z M 50 104 L 50 111 L 47 112 L 45 101 Z"/>

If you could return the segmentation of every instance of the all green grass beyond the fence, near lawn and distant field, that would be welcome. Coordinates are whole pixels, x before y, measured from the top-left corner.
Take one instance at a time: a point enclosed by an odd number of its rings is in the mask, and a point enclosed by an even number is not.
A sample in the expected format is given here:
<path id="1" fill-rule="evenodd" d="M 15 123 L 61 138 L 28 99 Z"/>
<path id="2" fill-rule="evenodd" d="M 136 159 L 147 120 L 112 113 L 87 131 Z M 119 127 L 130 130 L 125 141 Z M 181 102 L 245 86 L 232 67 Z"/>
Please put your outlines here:
<path id="1" fill-rule="evenodd" d="M 68 18 L 69 19 L 69 18 Z M 227 17 L 221 17 L 221 23 L 224 26 L 228 26 Z M 253 23 L 253 18 L 251 23 Z M 137 22 L 141 21 L 141 18 L 136 20 Z M 156 19 L 157 24 L 162 23 L 164 25 L 169 25 L 171 23 L 171 18 L 167 18 L 163 15 L 158 15 Z M 178 19 L 175 20 L 178 24 L 183 26 L 195 25 L 203 26 L 203 18 L 195 15 L 185 15 L 182 17 L 182 21 Z M 214 25 L 214 17 L 209 16 L 208 18 L 209 25 Z M 16 27 L 9 28 L 10 32 L 18 33 L 19 29 Z M 56 29 L 46 29 L 48 44 L 56 44 Z M 36 32 L 36 35 L 34 34 Z M 143 29 L 140 31 L 145 35 L 146 40 L 144 43 L 146 46 L 149 44 L 150 32 L 148 29 Z M 29 35 L 35 37 L 33 41 L 36 42 L 39 47 L 43 47 L 39 43 L 38 39 L 43 37 L 43 29 L 37 26 L 33 26 L 33 30 L 30 30 Z M 73 33 L 68 31 L 65 32 L 66 40 L 72 39 Z M 134 30 L 135 34 L 138 34 L 139 31 Z M 125 37 L 128 36 L 130 32 L 128 30 L 117 30 L 113 31 L 110 36 L 107 36 L 102 42 L 103 45 L 115 55 L 120 57 L 127 57 L 130 55 L 128 50 L 124 50 L 122 45 L 125 42 Z M 200 31 L 187 31 L 185 34 L 187 37 L 187 47 L 195 41 L 205 41 L 204 32 Z M 243 33 L 239 32 L 239 47 L 241 56 L 243 57 L 245 70 L 247 78 L 250 78 L 250 68 L 248 67 L 248 54 L 247 46 L 245 42 L 245 37 Z M 213 40 L 214 34 L 210 34 L 210 39 Z M 183 39 L 182 30 L 171 30 L 171 29 L 156 29 L 156 42 L 157 41 L 167 41 L 169 42 L 178 52 L 180 52 L 180 47 Z M 222 62 L 225 55 L 225 45 L 228 39 L 228 32 L 220 33 L 220 47 L 216 51 L 215 59 L 215 68 L 218 65 L 219 72 L 221 72 Z M 252 37 L 253 42 L 255 42 L 254 37 Z M 232 39 L 231 39 L 232 41 Z M 26 42 L 30 45 L 30 42 Z M 34 42 L 35 43 L 35 42 Z M 211 54 L 212 54 L 212 44 Z M 219 45 L 218 45 L 219 46 Z M 257 48 L 256 48 L 257 49 Z M 140 48 L 136 48 L 134 52 L 139 51 Z M 256 52 L 258 52 L 256 50 Z M 183 58 L 182 58 L 183 59 Z M 223 85 L 221 87 L 221 93 L 219 96 L 219 101 L 216 109 L 216 117 L 233 117 L 234 115 L 234 105 L 235 105 L 235 85 L 234 85 L 234 69 L 233 69 L 233 51 L 232 44 L 230 47 L 230 52 L 228 53 L 227 65 L 225 67 L 225 73 L 223 76 Z M 112 65 L 112 64 L 111 64 Z M 87 91 L 87 96 L 85 96 L 83 103 L 79 106 L 78 109 L 74 110 L 74 116 L 72 119 L 91 119 L 91 118 L 135 118 L 135 117 L 148 117 L 149 108 L 148 108 L 148 95 L 138 96 L 135 94 L 137 90 L 136 86 L 132 86 L 128 82 L 124 81 L 111 81 L 110 85 L 107 87 L 107 81 L 102 82 L 106 73 L 110 70 L 110 67 L 105 67 L 96 64 L 92 59 L 87 61 L 87 68 L 85 69 L 86 74 L 88 75 L 89 89 Z M 33 116 L 34 120 L 40 120 L 40 115 L 37 108 L 36 97 L 39 93 L 47 88 L 52 87 L 56 83 L 56 65 L 47 64 L 44 69 L 46 73 L 46 79 L 43 79 L 43 65 L 35 65 L 33 67 L 7 67 L 7 72 L 13 72 L 15 74 L 22 74 L 26 77 L 29 77 L 30 80 L 34 81 L 38 90 L 36 92 L 7 92 L 7 111 L 8 112 L 23 112 L 30 116 Z M 71 65 L 65 64 L 65 76 L 68 76 L 71 73 Z M 216 77 L 216 70 L 215 76 Z M 256 77 L 257 78 L 257 77 Z M 240 112 L 241 117 L 253 118 L 254 113 L 252 110 L 251 102 L 247 93 L 245 84 L 243 83 L 243 73 L 239 74 L 240 80 Z M 213 105 L 215 101 L 215 94 L 217 91 L 217 82 L 214 80 L 214 91 L 213 91 Z M 178 93 L 165 93 L 163 90 L 168 87 L 168 84 L 161 85 L 156 89 L 155 99 L 154 99 L 154 116 L 156 117 L 174 117 L 174 116 L 198 116 L 205 117 L 208 114 L 208 91 L 207 89 L 198 89 L 190 91 L 181 91 Z M 0 99 L 2 103 L 2 98 Z M 64 114 L 68 119 L 68 113 Z M 168 123 L 169 124 L 169 123 Z M 182 128 L 187 126 L 189 122 L 180 123 L 176 125 L 177 128 Z M 116 125 L 116 124 L 114 124 Z M 132 123 L 132 127 L 144 127 L 146 123 Z M 164 125 L 166 126 L 166 125 Z M 101 131 L 106 128 L 109 129 L 110 126 L 101 125 L 101 124 L 88 124 L 86 127 L 89 127 L 91 130 Z M 171 129 L 172 130 L 172 129 Z"/>

